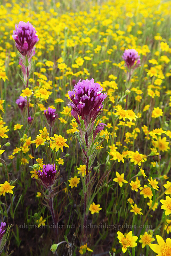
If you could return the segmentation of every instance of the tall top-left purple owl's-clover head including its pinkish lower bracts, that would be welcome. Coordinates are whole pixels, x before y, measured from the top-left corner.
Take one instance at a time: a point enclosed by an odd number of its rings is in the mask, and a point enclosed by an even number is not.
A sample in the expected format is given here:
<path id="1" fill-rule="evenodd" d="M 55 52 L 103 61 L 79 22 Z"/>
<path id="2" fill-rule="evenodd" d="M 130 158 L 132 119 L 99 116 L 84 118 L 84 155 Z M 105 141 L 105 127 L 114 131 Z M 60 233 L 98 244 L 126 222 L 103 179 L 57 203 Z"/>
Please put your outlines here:
<path id="1" fill-rule="evenodd" d="M 35 54 L 34 45 L 39 39 L 35 28 L 29 21 L 27 23 L 20 21 L 18 26 L 15 24 L 15 30 L 13 30 L 12 37 L 15 40 L 16 48 L 20 52 L 19 65 L 21 65 L 24 80 L 26 81 L 31 69 L 31 58 Z"/>

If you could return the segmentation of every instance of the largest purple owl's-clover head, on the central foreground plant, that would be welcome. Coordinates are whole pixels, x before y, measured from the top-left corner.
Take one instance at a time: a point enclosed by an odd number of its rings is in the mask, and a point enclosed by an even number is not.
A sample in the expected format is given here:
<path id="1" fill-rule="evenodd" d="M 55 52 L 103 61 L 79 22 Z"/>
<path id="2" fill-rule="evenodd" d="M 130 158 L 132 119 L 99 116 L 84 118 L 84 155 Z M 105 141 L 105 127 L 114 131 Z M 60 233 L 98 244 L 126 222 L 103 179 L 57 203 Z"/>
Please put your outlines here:
<path id="1" fill-rule="evenodd" d="M 91 80 L 79 80 L 72 91 L 68 91 L 71 99 L 70 106 L 72 107 L 71 115 L 80 124 L 79 118 L 84 120 L 87 129 L 90 120 L 93 121 L 101 113 L 103 108 L 102 102 L 107 97 L 107 93 L 102 93 L 103 88 L 98 83 Z"/>

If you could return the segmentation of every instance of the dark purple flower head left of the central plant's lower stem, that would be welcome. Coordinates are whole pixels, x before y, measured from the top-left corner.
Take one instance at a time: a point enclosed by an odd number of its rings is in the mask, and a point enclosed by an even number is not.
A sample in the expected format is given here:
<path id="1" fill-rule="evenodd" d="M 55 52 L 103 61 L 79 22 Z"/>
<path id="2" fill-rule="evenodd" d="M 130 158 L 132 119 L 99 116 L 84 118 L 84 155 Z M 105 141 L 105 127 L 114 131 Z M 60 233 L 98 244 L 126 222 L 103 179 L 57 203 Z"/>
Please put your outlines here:
<path id="1" fill-rule="evenodd" d="M 56 180 L 56 166 L 55 164 L 44 164 L 42 171 L 38 170 L 37 174 L 45 188 L 51 187 Z"/>

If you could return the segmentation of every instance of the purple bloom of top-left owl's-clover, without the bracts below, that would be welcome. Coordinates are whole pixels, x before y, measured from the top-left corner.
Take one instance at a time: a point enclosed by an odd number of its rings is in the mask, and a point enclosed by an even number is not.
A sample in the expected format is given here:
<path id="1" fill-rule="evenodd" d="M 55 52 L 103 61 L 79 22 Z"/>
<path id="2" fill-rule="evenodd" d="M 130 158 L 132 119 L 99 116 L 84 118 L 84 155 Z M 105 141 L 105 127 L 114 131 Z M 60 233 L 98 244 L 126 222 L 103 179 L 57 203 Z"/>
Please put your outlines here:
<path id="1" fill-rule="evenodd" d="M 35 28 L 28 21 L 20 21 L 18 26 L 15 24 L 15 30 L 13 31 L 13 39 L 15 40 L 15 46 L 21 55 L 31 57 L 35 54 L 34 45 L 38 42 L 38 36 Z"/>

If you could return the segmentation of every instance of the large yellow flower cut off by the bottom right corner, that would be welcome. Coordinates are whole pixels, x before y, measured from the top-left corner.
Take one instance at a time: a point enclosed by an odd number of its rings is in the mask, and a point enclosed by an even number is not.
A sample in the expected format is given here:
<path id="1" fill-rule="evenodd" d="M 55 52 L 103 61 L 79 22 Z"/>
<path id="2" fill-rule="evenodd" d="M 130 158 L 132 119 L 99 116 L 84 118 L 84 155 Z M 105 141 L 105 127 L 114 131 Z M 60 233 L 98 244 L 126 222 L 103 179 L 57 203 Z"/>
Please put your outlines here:
<path id="1" fill-rule="evenodd" d="M 158 244 L 150 244 L 150 248 L 155 253 L 158 253 L 156 256 L 166 256 L 171 255 L 171 239 L 167 238 L 166 242 L 159 235 L 156 235 Z"/>

